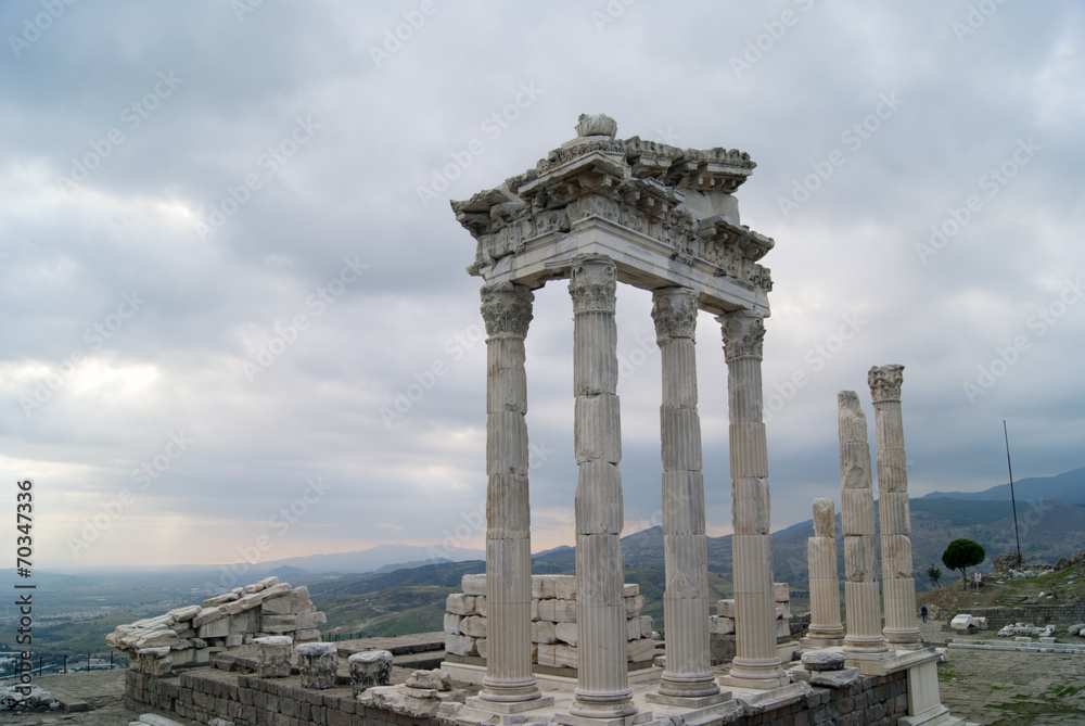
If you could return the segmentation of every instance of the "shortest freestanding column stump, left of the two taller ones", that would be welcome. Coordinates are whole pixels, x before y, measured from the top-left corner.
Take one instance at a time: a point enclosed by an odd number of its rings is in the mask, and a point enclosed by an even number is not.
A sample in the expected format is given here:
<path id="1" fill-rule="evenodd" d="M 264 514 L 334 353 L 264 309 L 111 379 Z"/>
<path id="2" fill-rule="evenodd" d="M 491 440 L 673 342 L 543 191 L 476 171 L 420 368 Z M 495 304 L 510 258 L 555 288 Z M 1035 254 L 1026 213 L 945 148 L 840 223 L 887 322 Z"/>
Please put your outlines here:
<path id="1" fill-rule="evenodd" d="M 814 500 L 814 536 L 806 540 L 810 579 L 810 627 L 804 648 L 844 642 L 840 622 L 840 571 L 837 569 L 837 523 L 832 499 Z"/>

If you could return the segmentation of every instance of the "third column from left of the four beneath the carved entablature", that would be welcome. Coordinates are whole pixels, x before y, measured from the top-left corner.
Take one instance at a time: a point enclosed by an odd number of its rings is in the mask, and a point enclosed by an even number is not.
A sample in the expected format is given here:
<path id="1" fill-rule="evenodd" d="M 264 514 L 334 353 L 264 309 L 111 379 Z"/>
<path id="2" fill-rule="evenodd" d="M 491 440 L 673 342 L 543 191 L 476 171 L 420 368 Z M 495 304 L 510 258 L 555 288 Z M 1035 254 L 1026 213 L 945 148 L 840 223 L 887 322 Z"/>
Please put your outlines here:
<path id="1" fill-rule="evenodd" d="M 689 288 L 652 293 L 655 341 L 663 358 L 660 428 L 667 659 L 659 692 L 679 702 L 700 702 L 719 693 L 709 655 L 709 556 L 693 337 L 697 310 L 697 292 Z"/>

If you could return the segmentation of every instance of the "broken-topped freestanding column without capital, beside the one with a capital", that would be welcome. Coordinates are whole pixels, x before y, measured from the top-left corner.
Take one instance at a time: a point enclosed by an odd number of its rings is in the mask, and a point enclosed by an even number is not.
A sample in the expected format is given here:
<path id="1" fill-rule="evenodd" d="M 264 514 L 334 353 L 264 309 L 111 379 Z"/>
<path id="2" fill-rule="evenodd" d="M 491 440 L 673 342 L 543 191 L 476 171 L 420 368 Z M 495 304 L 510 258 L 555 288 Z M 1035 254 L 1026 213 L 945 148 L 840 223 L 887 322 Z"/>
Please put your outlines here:
<path id="1" fill-rule="evenodd" d="M 875 537 L 875 493 L 870 479 L 867 417 L 854 391 L 837 394 L 840 411 L 840 480 L 844 530 L 844 608 L 847 635 L 844 655 L 851 661 L 886 654 L 881 634 L 878 588 L 878 542 Z M 853 665 L 855 663 L 852 663 Z"/>

